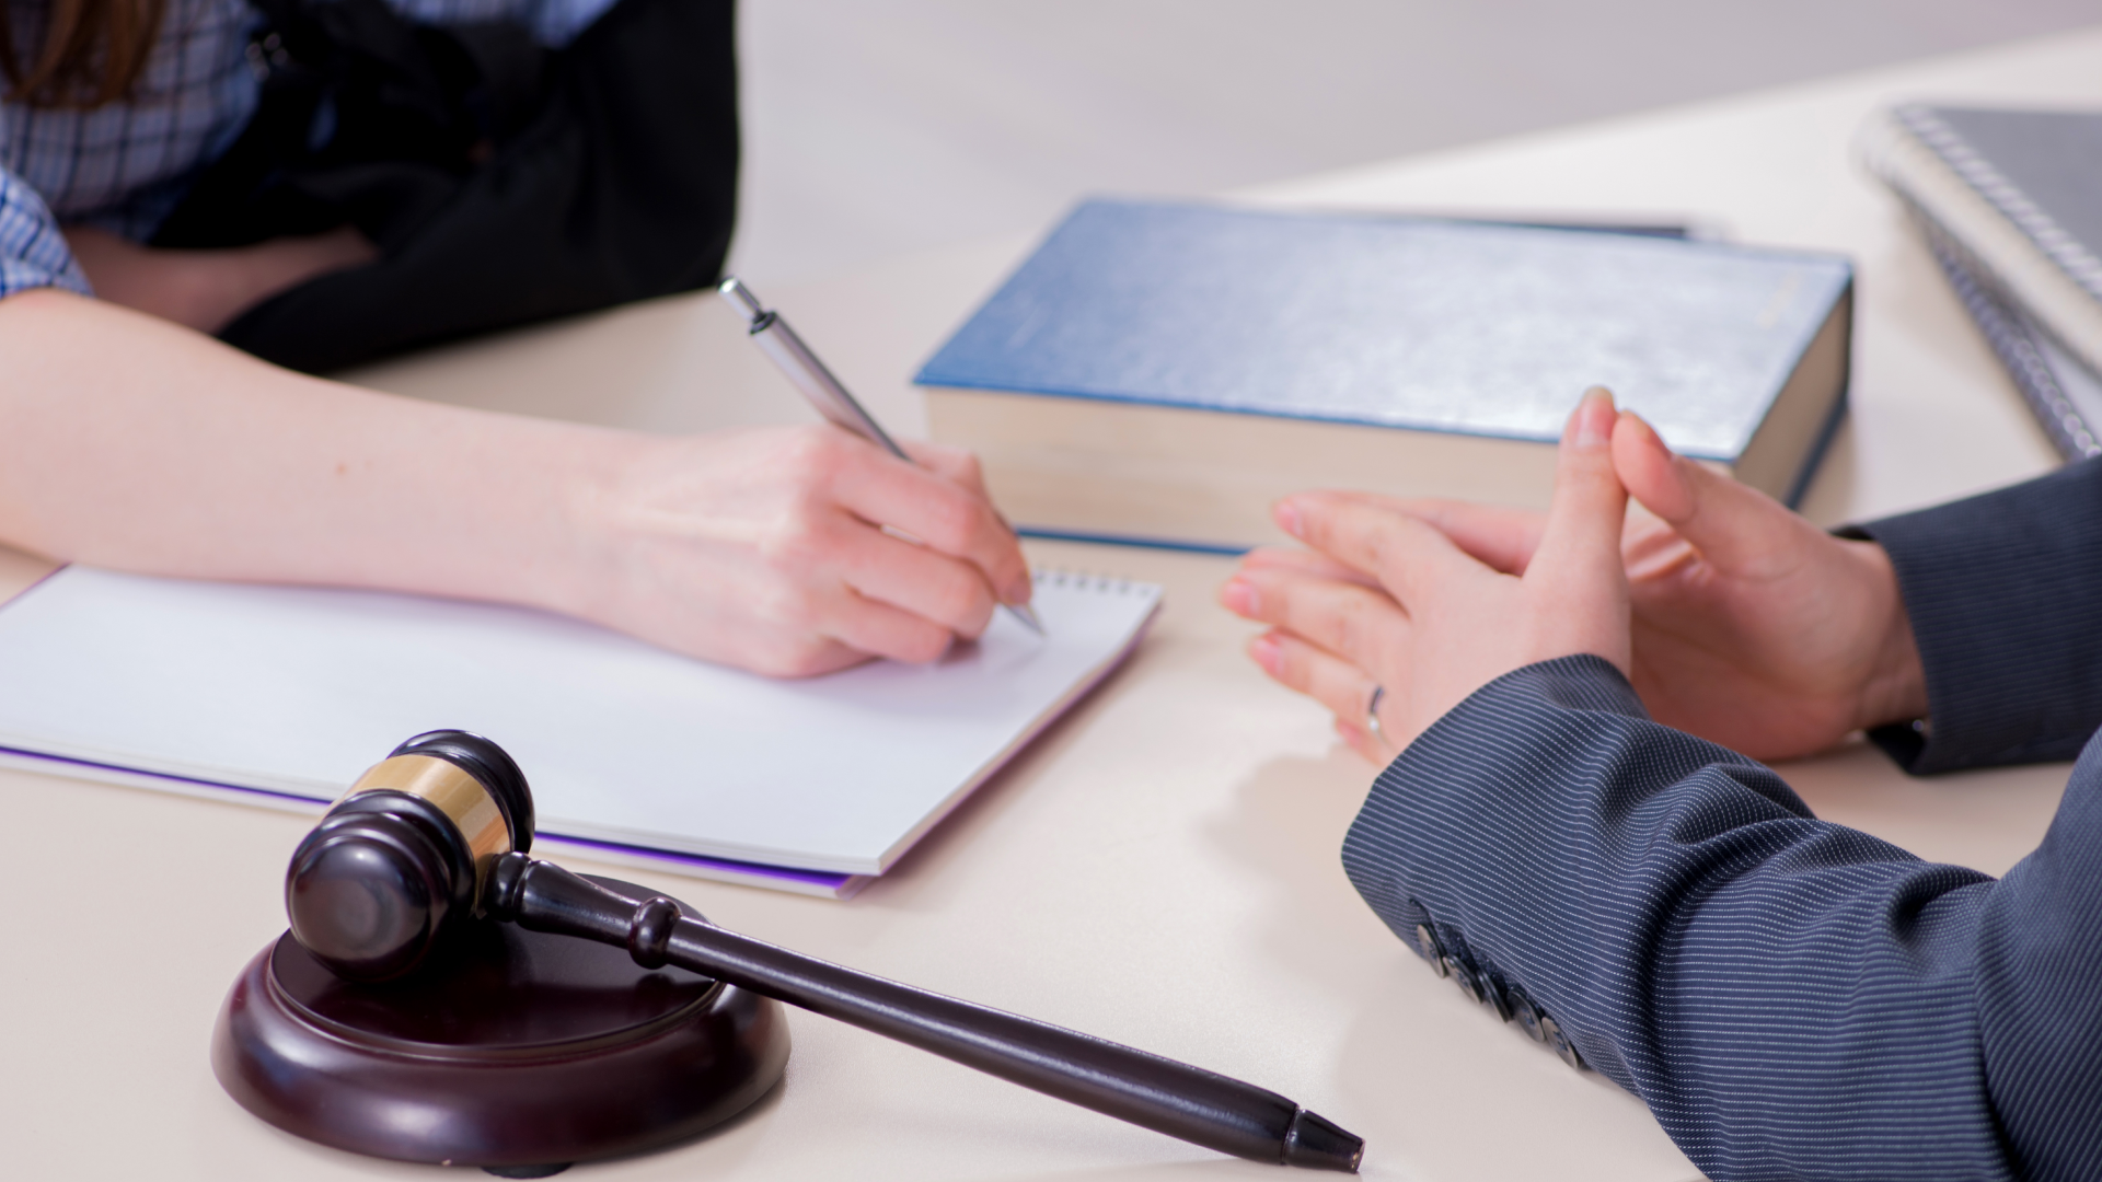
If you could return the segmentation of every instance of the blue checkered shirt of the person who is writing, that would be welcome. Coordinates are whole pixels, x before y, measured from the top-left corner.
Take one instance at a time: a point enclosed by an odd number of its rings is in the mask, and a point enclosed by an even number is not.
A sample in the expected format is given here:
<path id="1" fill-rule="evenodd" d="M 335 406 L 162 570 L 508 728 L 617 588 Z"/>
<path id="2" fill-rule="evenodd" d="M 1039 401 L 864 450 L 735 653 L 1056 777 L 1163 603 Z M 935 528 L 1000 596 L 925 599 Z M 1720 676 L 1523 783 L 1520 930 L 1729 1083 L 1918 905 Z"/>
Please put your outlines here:
<path id="1" fill-rule="evenodd" d="M 387 0 L 429 23 L 523 19 L 559 46 L 614 0 Z M 15 44 L 42 44 L 46 2 L 6 0 Z M 246 0 L 170 0 L 132 97 L 92 111 L 0 103 L 0 297 L 23 288 L 92 294 L 63 223 L 143 242 L 195 175 L 233 145 L 261 97 Z"/>

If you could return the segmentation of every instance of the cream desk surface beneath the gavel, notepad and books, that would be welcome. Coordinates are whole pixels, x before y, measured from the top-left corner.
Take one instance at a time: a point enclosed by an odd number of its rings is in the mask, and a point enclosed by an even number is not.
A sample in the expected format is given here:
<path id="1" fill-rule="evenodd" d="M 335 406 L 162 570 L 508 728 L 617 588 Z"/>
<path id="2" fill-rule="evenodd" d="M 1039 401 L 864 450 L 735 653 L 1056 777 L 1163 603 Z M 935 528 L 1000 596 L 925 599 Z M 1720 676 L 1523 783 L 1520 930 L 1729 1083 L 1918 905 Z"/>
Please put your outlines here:
<path id="1" fill-rule="evenodd" d="M 1860 263 L 1854 412 L 1808 501 L 1839 522 L 2049 469 L 2041 431 L 1848 141 L 1881 101 L 2102 101 L 2102 32 L 1276 185 L 1299 206 L 1698 217 Z M 1028 242 L 769 290 L 849 385 L 923 423 L 914 364 Z M 694 429 L 803 416 L 713 299 L 683 297 L 376 366 L 380 389 Z M 1099 694 L 898 871 L 839 904 L 628 871 L 717 921 L 1284 1092 L 1366 1136 L 1368 1178 L 1677 1182 L 1631 1096 L 1436 980 L 1337 848 L 1373 770 L 1240 656 L 1223 559 L 1032 545 L 1169 587 Z M 40 564 L 0 555 L 0 593 Z M 2064 768 L 1907 782 L 1850 747 L 1785 768 L 1818 814 L 2005 871 Z M 282 930 L 305 818 L 0 772 L 0 1144 L 21 1178 L 416 1178 L 282 1136 L 206 1064 L 240 965 Z M 107 949 L 120 946 L 122 953 Z M 69 961 L 65 972 L 48 965 Z M 792 1014 L 786 1085 L 700 1142 L 572 1178 L 1278 1178 Z M 479 1174 L 475 1174 L 479 1176 Z"/>

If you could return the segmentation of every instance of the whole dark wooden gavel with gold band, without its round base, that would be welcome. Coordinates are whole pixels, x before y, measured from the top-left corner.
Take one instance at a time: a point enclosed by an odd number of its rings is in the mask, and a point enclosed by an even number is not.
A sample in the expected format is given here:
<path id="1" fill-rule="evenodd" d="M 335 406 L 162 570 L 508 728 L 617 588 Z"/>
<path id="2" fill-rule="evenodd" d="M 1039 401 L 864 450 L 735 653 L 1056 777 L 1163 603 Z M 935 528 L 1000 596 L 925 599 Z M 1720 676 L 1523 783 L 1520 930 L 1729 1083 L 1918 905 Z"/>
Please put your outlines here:
<path id="1" fill-rule="evenodd" d="M 1364 1140 L 1263 1087 L 727 932 L 671 898 L 633 904 L 528 856 L 526 774 L 488 738 L 435 730 L 366 772 L 286 871 L 292 938 L 345 980 L 416 972 L 467 923 L 614 944 L 933 1052 L 1204 1148 L 1356 1174 Z"/>

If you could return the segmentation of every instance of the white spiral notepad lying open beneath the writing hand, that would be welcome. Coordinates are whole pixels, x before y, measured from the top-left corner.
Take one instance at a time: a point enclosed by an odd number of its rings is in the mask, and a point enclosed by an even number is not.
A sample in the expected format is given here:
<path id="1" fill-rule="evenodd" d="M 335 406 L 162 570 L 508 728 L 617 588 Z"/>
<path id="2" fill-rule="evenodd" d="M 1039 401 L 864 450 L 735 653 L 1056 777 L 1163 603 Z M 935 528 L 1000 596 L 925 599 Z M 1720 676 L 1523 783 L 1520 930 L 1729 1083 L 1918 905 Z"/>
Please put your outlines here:
<path id="1" fill-rule="evenodd" d="M 935 665 L 769 681 L 576 620 L 414 595 L 67 568 L 0 608 L 0 757 L 320 808 L 404 738 L 486 734 L 540 833 L 845 896 L 1139 641 L 1146 583 L 1047 572 Z"/>

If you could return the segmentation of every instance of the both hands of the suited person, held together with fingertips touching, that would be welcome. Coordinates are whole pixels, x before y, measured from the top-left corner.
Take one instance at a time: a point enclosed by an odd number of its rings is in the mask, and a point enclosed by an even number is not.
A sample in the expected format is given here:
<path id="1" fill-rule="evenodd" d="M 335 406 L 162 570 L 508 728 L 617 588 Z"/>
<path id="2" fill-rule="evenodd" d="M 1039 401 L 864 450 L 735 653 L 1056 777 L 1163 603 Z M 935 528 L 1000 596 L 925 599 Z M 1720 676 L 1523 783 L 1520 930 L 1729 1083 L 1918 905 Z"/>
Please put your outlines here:
<path id="1" fill-rule="evenodd" d="M 1881 547 L 1671 454 L 1602 389 L 1564 429 L 1545 515 L 1305 492 L 1276 517 L 1310 549 L 1251 551 L 1219 599 L 1272 625 L 1249 654 L 1377 763 L 1488 681 L 1572 654 L 1629 675 L 1656 721 L 1759 759 L 1928 709 Z"/>

